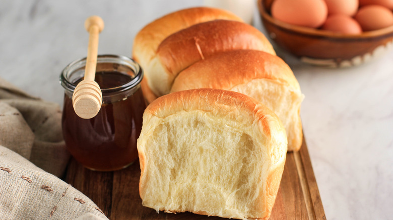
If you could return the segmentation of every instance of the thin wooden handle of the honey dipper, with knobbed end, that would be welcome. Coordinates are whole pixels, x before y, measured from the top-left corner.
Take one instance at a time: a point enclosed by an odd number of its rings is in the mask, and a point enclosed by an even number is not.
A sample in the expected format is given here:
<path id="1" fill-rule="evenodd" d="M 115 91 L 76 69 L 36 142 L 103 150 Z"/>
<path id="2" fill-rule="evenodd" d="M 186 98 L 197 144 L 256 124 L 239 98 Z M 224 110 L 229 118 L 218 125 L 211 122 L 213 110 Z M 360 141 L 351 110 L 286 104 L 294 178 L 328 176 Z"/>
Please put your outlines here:
<path id="1" fill-rule="evenodd" d="M 85 80 L 94 81 L 98 55 L 98 36 L 104 29 L 104 22 L 98 16 L 91 16 L 85 21 L 85 28 L 89 32 Z"/>

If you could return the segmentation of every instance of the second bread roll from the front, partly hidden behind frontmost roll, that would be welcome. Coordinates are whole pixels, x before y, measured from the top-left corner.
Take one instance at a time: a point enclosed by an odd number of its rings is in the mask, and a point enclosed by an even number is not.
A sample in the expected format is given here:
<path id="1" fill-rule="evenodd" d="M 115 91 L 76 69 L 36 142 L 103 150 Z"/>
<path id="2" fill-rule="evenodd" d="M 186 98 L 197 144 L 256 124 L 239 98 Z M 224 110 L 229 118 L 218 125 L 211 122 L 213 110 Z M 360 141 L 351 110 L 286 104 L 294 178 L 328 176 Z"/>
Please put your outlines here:
<path id="1" fill-rule="evenodd" d="M 292 70 L 278 56 L 255 50 L 215 54 L 179 73 L 171 92 L 193 88 L 231 90 L 257 99 L 283 122 L 288 135 L 288 150 L 300 149 L 303 95 Z"/>

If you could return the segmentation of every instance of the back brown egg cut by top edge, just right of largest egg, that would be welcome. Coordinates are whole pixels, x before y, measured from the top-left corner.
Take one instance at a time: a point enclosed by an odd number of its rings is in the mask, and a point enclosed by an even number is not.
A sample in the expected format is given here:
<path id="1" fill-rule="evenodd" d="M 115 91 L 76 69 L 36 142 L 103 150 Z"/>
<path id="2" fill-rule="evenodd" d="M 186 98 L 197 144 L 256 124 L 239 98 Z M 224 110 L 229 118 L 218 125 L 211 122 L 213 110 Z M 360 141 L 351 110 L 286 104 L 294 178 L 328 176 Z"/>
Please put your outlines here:
<path id="1" fill-rule="evenodd" d="M 324 0 L 328 6 L 328 14 L 354 16 L 359 8 L 359 0 Z"/>

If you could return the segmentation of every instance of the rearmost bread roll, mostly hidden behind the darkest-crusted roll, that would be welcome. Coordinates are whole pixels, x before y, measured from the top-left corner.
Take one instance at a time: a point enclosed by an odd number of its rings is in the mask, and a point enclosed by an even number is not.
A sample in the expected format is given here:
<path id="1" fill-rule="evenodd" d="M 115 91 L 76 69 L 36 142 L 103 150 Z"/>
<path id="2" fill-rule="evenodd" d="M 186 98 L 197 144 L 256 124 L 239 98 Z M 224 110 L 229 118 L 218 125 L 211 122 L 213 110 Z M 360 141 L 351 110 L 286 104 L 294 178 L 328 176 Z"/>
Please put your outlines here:
<path id="1" fill-rule="evenodd" d="M 142 68 L 145 68 L 156 55 L 158 45 L 169 35 L 194 24 L 216 19 L 242 21 L 230 12 L 205 7 L 189 8 L 170 13 L 151 22 L 137 34 L 134 39 L 133 58 L 141 64 Z M 157 97 L 147 86 L 146 80 L 148 78 L 149 73 L 145 70 L 142 89 L 148 100 L 154 100 Z"/>

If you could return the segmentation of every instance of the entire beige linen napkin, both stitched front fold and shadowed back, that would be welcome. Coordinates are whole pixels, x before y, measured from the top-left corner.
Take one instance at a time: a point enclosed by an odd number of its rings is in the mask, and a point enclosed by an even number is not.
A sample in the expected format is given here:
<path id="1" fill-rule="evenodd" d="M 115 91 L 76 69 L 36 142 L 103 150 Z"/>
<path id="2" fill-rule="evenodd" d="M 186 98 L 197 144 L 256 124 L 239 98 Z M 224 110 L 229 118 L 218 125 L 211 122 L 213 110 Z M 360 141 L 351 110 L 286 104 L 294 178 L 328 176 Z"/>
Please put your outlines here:
<path id="1" fill-rule="evenodd" d="M 0 220 L 108 219 L 93 201 L 56 177 L 69 158 L 59 106 L 0 78 Z"/>

